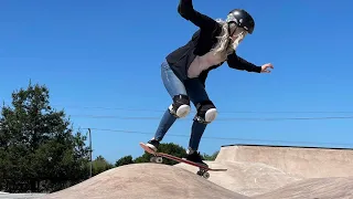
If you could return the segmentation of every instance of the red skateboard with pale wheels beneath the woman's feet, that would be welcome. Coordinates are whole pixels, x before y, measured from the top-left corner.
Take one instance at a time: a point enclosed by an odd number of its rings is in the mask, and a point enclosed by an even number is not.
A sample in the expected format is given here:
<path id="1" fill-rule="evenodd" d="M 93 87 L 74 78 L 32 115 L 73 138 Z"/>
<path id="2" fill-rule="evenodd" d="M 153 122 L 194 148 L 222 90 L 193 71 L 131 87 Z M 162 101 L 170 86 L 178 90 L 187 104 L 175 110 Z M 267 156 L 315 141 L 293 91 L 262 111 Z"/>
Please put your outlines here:
<path id="1" fill-rule="evenodd" d="M 184 164 L 188 164 L 188 165 L 197 167 L 199 170 L 197 170 L 196 175 L 202 176 L 202 177 L 204 177 L 205 179 L 210 178 L 208 170 L 210 170 L 210 171 L 226 171 L 226 170 L 227 170 L 227 169 L 214 169 L 214 168 L 210 168 L 210 167 L 206 167 L 206 166 L 196 164 L 196 163 L 194 163 L 194 161 L 190 161 L 190 160 L 186 160 L 186 159 L 184 159 L 184 158 L 175 157 L 175 156 L 172 156 L 172 155 L 169 155 L 169 154 L 164 154 L 164 153 L 156 153 L 156 151 L 153 151 L 151 148 L 149 148 L 145 143 L 140 143 L 140 146 L 145 149 L 145 151 L 153 155 L 153 156 L 151 157 L 151 159 L 150 159 L 151 163 L 161 164 L 161 163 L 163 161 L 163 157 L 164 157 L 164 158 L 168 158 L 168 159 L 171 159 L 171 160 L 179 161 L 179 163 L 184 163 Z"/>

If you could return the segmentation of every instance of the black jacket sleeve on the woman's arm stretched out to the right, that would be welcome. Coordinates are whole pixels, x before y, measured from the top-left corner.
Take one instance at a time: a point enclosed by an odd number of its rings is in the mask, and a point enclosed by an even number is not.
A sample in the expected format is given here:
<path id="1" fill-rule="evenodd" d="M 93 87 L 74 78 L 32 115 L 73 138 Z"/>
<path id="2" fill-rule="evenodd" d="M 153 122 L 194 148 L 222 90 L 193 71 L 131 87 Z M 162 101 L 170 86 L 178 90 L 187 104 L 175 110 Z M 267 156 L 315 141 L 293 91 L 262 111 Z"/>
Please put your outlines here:
<path id="1" fill-rule="evenodd" d="M 240 70 L 240 71 L 247 71 L 247 72 L 261 72 L 261 66 L 257 66 L 240 56 L 238 56 L 236 53 L 232 53 L 228 55 L 227 64 L 232 69 Z"/>

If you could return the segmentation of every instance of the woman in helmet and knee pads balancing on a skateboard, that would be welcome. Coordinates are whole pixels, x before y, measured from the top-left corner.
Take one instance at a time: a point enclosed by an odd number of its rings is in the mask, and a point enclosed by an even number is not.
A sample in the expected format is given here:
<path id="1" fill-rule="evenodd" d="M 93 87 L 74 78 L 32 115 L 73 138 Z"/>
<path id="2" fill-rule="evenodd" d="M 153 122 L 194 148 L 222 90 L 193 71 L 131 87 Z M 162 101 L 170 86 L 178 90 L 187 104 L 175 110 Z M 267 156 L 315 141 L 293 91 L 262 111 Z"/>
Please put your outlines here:
<path id="1" fill-rule="evenodd" d="M 256 73 L 269 73 L 268 69 L 274 66 L 270 63 L 257 66 L 236 54 L 239 42 L 247 34 L 252 34 L 255 28 L 255 21 L 247 11 L 234 9 L 225 21 L 213 20 L 194 10 L 192 0 L 180 0 L 178 12 L 199 30 L 185 45 L 170 53 L 161 64 L 162 82 L 172 103 L 162 116 L 154 137 L 147 145 L 157 151 L 176 118 L 185 117 L 190 113 L 192 102 L 196 114 L 193 117 L 185 158 L 204 164 L 199 153 L 199 144 L 207 124 L 217 115 L 217 109 L 205 91 L 208 72 L 224 62 L 232 69 Z"/>

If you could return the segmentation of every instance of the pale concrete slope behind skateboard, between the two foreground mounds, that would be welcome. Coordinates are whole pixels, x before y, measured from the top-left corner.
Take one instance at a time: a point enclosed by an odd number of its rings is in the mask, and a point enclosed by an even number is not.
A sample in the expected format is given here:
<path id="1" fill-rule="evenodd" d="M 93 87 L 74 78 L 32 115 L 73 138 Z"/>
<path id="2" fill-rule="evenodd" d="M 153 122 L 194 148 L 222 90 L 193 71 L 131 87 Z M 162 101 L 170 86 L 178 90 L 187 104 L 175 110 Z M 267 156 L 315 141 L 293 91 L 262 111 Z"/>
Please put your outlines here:
<path id="1" fill-rule="evenodd" d="M 212 168 L 227 168 L 226 171 L 210 171 L 210 181 L 248 197 L 269 192 L 284 185 L 302 179 L 264 164 L 237 161 L 205 163 Z M 175 167 L 194 174 L 197 171 L 196 167 L 186 164 L 178 164 Z"/>

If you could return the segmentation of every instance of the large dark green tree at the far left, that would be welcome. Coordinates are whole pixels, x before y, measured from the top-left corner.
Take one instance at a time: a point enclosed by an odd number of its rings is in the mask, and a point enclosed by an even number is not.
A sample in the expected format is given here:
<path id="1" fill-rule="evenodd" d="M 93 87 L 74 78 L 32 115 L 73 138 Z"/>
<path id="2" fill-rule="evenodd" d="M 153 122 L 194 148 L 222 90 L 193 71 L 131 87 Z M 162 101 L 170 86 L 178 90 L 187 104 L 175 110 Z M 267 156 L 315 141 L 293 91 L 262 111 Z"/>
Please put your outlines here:
<path id="1" fill-rule="evenodd" d="M 0 116 L 0 189 L 57 190 L 88 177 L 86 137 L 73 130 L 64 111 L 50 106 L 49 88 L 12 93 Z"/>

